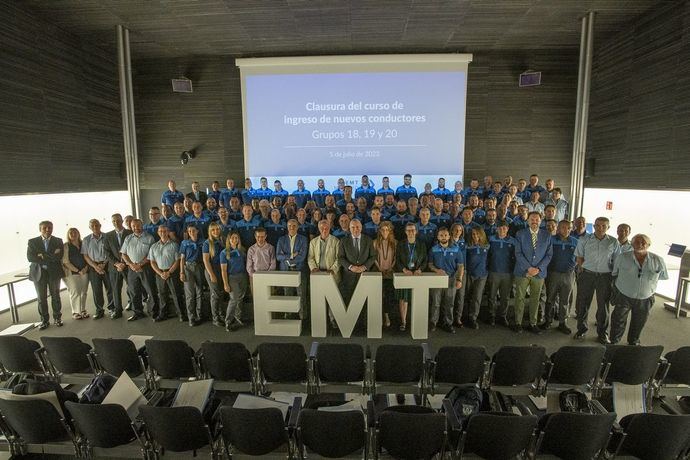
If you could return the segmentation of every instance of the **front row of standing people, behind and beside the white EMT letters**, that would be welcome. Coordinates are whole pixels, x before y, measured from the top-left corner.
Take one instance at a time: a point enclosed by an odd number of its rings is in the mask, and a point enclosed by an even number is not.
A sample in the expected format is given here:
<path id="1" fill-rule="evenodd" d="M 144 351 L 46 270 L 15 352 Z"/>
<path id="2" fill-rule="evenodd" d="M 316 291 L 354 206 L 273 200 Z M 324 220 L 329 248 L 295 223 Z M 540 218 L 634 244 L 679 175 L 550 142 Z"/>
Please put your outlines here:
<path id="1" fill-rule="evenodd" d="M 89 284 L 96 308 L 94 319 L 102 318 L 106 309 L 111 318 L 122 317 L 126 280 L 133 310 L 129 321 L 146 316 L 146 303 L 154 321 L 167 319 L 174 307 L 180 321 L 196 326 L 202 320 L 202 293 L 208 288 L 213 324 L 235 330 L 242 326 L 241 307 L 257 271 L 328 272 L 341 286 L 347 304 L 360 275 L 376 270 L 384 280 L 384 325 L 391 326 L 397 304 L 398 326 L 404 331 L 411 294 L 394 290 L 393 273 L 415 276 L 430 271 L 448 277 L 447 288 L 432 291 L 432 331 L 436 327 L 450 333 L 462 326 L 478 329 L 488 281 L 488 323 L 492 326 L 498 323 L 522 332 L 527 313 L 530 332 L 539 334 L 557 320 L 558 330 L 569 334 L 568 306 L 577 280 L 575 338 L 582 339 L 587 333 L 588 310 L 596 292 L 598 340 L 619 342 L 632 313 L 627 341 L 639 344 L 654 303 L 656 283 L 668 278 L 663 259 L 648 252 L 651 241 L 646 235 L 635 235 L 629 244 L 624 242 L 622 251 L 619 239 L 607 235 L 609 221 L 603 217 L 596 219 L 594 233 L 579 238 L 571 234 L 569 221 L 560 221 L 554 235 L 541 226 L 541 214 L 531 212 L 527 227 L 514 237 L 509 235 L 505 221 L 496 223 L 495 235 L 490 238 L 482 226 L 470 221 L 467 225 L 453 224 L 450 229 L 441 227 L 435 238 L 429 239 L 424 234 L 428 217 L 424 211 L 428 210 L 422 210 L 420 222 L 404 225 L 400 241 L 396 241 L 394 226 L 388 221 L 380 222 L 374 239 L 363 233 L 360 220 L 352 219 L 349 232 L 339 239 L 332 234 L 330 221 L 323 219 L 318 222 L 318 234 L 310 240 L 300 234 L 299 221 L 291 219 L 275 246 L 267 241 L 269 229 L 265 227 L 270 223 L 254 225 L 248 247 L 237 230 L 224 237 L 218 222 L 204 229 L 187 225 L 187 238 L 178 244 L 174 231 L 165 223 L 158 225 L 156 240 L 144 231 L 141 220 L 133 219 L 130 230 L 124 227 L 121 215 L 114 214 L 114 230 L 103 233 L 101 224 L 92 219 L 91 234 L 82 240 L 79 231 L 71 228 L 63 244 L 52 236 L 52 223 L 44 221 L 39 224 L 41 235 L 29 240 L 27 253 L 30 278 L 38 295 L 40 328 L 49 326 L 47 290 L 54 322 L 62 325 L 61 279 L 70 294 L 74 319 L 89 317 L 85 308 Z M 203 238 L 202 232 L 208 237 Z M 286 295 L 301 297 L 300 319 L 306 317 L 307 283 L 308 276 L 304 276 L 300 287 L 285 288 Z M 508 300 L 513 286 L 514 321 L 510 324 Z M 609 318 L 611 303 L 615 309 Z"/>

